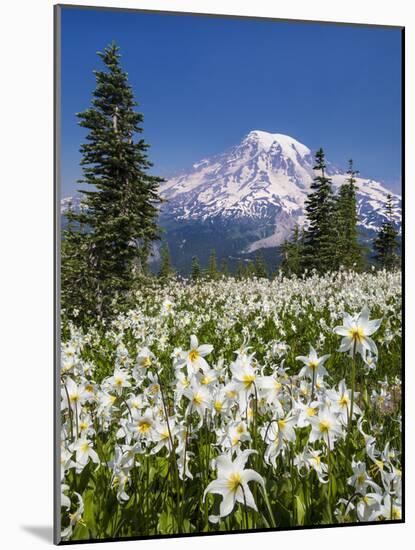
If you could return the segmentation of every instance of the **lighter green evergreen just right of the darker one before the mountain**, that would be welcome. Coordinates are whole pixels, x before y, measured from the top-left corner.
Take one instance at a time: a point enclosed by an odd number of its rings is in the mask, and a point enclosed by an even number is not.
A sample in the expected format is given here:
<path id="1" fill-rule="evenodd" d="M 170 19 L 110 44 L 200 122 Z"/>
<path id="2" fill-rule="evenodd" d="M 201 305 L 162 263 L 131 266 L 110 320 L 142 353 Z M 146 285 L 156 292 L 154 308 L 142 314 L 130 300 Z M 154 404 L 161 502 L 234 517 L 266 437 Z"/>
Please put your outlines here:
<path id="1" fill-rule="evenodd" d="M 348 178 L 340 187 L 336 199 L 334 225 L 336 231 L 335 268 L 341 265 L 354 271 L 364 267 L 363 247 L 359 244 L 357 229 L 356 176 L 359 173 L 349 160 Z"/>

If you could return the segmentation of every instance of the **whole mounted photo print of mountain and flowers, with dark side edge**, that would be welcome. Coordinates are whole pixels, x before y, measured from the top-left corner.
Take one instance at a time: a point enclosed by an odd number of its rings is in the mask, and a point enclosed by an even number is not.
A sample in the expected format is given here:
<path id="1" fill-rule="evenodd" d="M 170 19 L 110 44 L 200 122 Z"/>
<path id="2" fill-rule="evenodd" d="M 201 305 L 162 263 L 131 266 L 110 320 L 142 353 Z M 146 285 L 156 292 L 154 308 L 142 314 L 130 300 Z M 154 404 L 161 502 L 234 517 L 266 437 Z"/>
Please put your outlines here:
<path id="1" fill-rule="evenodd" d="M 55 7 L 56 543 L 403 521 L 403 37 Z"/>

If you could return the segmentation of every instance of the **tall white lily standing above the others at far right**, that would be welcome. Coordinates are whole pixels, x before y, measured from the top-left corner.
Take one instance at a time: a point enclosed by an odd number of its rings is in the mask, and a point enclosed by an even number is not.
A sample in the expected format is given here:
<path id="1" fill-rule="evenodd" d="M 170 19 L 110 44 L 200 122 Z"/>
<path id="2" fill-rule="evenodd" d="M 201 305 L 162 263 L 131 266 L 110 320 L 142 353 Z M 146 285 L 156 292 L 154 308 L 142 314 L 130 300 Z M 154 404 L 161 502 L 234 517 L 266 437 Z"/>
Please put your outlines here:
<path id="1" fill-rule="evenodd" d="M 378 330 L 382 319 L 373 319 L 370 321 L 369 315 L 370 312 L 367 306 L 357 315 L 344 314 L 343 326 L 333 329 L 333 332 L 343 336 L 339 351 L 348 351 L 351 356 L 357 352 L 363 358 L 365 358 L 366 353 L 369 351 L 377 357 L 378 348 L 370 336 Z"/>

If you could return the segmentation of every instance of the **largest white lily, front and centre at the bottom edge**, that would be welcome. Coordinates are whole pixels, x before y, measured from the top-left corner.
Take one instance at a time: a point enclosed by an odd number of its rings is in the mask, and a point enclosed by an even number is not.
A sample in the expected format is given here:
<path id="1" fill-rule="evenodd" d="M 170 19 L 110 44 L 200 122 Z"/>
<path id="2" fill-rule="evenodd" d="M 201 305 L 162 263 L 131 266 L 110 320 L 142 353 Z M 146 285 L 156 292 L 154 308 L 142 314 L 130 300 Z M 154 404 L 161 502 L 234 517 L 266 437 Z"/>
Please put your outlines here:
<path id="1" fill-rule="evenodd" d="M 252 449 L 242 451 L 234 461 L 232 461 L 230 455 L 226 454 L 220 455 L 216 459 L 218 477 L 206 487 L 203 500 L 205 500 L 207 493 L 221 495 L 222 502 L 219 508 L 221 518 L 228 516 L 237 502 L 257 511 L 248 483 L 256 481 L 264 488 L 265 482 L 254 470 L 244 469 L 248 457 L 252 453 L 256 453 L 256 451 Z M 215 521 L 215 519 L 213 520 Z"/>

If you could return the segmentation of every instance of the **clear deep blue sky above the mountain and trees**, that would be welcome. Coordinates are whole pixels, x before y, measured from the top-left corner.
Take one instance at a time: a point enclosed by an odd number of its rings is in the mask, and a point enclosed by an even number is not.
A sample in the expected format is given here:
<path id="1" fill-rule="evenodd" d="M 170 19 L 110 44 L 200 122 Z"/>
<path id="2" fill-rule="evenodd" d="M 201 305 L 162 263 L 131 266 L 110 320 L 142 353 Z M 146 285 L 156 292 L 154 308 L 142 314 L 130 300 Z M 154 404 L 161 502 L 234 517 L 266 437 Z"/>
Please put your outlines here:
<path id="1" fill-rule="evenodd" d="M 79 188 L 96 52 L 115 40 L 153 173 L 169 176 L 251 130 L 285 133 L 400 190 L 401 31 L 62 10 L 62 195 Z"/>

